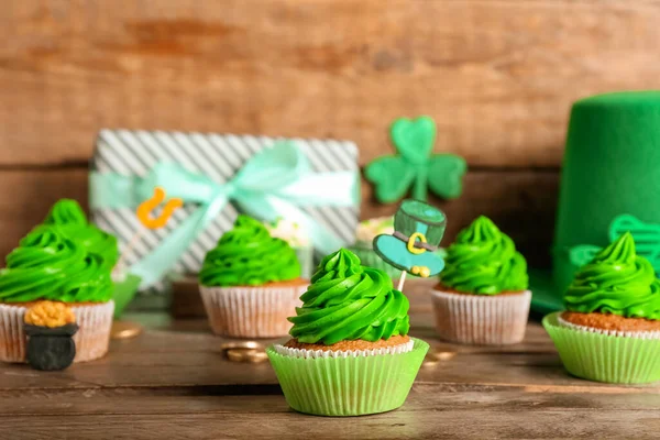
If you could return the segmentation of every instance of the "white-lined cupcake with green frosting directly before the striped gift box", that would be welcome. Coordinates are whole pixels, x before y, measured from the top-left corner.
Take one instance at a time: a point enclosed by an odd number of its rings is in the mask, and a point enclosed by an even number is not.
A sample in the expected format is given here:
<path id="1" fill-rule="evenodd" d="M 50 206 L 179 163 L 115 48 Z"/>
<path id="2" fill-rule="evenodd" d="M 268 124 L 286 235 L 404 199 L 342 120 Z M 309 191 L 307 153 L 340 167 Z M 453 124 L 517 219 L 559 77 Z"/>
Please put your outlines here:
<path id="1" fill-rule="evenodd" d="M 287 317 L 309 284 L 296 252 L 266 227 L 239 216 L 211 249 L 199 273 L 201 298 L 216 334 L 275 338 L 287 334 Z"/>

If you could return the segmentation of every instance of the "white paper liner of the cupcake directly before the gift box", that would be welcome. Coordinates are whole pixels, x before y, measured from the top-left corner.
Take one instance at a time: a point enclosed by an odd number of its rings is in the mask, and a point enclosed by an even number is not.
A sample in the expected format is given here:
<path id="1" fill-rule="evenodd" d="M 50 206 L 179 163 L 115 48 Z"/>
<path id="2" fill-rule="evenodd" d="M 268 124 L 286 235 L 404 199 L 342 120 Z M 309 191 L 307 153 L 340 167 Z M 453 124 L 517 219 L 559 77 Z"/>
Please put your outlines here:
<path id="1" fill-rule="evenodd" d="M 296 315 L 305 290 L 307 285 L 199 289 L 213 333 L 233 338 L 287 336 L 287 318 Z"/>

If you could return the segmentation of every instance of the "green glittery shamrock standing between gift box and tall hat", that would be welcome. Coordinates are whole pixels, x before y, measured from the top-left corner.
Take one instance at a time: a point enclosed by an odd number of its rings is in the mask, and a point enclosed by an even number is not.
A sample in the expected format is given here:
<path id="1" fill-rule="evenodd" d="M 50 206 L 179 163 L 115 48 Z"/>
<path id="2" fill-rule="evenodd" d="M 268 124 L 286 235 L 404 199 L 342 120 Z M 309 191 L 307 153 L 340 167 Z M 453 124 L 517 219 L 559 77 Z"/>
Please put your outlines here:
<path id="1" fill-rule="evenodd" d="M 391 204 L 404 197 L 413 186 L 413 197 L 427 200 L 427 188 L 440 197 L 461 195 L 465 161 L 455 154 L 432 154 L 436 122 L 429 117 L 410 120 L 399 118 L 389 128 L 389 136 L 398 155 L 374 160 L 365 176 L 376 187 L 376 198 Z"/>

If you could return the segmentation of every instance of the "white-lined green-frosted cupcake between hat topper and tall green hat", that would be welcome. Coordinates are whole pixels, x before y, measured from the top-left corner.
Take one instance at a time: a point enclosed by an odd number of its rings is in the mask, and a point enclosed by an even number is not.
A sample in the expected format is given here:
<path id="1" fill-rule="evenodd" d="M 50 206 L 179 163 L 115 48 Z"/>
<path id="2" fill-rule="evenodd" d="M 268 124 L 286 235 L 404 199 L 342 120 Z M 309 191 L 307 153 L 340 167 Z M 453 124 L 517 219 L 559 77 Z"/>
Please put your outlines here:
<path id="1" fill-rule="evenodd" d="M 514 241 L 481 216 L 447 249 L 431 298 L 442 339 L 476 345 L 522 341 L 531 293 Z"/>

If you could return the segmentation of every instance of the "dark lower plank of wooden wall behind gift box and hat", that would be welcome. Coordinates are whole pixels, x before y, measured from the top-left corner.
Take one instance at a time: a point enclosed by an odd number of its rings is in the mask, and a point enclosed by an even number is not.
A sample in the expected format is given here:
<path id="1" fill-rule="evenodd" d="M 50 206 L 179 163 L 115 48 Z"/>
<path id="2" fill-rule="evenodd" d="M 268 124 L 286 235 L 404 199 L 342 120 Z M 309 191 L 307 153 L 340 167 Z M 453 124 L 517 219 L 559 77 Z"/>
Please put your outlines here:
<path id="1" fill-rule="evenodd" d="M 491 217 L 509 233 L 531 265 L 549 263 L 558 191 L 557 172 L 476 170 L 465 176 L 461 198 L 432 199 L 448 216 L 442 245 L 480 215 Z M 363 219 L 393 215 L 397 205 L 373 200 L 373 187 L 363 182 Z M 87 168 L 0 170 L 0 255 L 7 255 L 59 198 L 87 207 Z"/>

